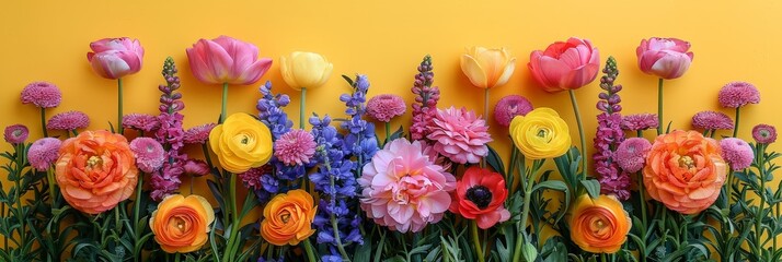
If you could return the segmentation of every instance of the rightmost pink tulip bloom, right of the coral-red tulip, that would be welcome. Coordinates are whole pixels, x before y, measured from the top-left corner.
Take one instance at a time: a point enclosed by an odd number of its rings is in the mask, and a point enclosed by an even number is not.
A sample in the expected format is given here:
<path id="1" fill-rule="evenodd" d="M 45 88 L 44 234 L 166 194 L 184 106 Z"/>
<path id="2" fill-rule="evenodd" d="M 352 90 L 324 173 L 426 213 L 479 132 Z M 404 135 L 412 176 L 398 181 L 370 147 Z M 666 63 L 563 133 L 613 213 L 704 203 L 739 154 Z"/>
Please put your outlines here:
<path id="1" fill-rule="evenodd" d="M 690 43 L 676 38 L 652 37 L 641 40 L 635 49 L 639 56 L 639 68 L 647 74 L 663 79 L 678 79 L 692 62 L 692 52 L 688 52 Z"/>

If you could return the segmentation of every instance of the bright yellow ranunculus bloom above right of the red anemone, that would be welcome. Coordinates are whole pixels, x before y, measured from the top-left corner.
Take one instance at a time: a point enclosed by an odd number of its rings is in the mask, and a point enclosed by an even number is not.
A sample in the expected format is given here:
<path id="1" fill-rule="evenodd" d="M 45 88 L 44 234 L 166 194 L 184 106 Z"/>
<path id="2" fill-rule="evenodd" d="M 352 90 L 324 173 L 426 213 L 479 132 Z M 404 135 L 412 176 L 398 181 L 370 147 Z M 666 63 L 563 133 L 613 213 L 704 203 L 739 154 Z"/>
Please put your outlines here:
<path id="1" fill-rule="evenodd" d="M 509 132 L 516 147 L 529 159 L 557 157 L 571 148 L 567 123 L 548 107 L 515 117 Z"/>

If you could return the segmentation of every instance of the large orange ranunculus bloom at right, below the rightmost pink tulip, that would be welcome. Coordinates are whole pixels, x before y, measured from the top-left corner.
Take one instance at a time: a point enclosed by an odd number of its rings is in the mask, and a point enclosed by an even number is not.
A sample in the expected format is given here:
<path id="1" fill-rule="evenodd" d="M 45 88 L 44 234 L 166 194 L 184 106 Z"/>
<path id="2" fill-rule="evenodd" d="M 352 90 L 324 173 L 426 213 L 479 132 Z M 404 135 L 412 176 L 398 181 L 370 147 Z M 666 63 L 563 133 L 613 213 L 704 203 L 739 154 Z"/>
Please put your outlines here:
<path id="1" fill-rule="evenodd" d="M 727 165 L 720 144 L 695 131 L 677 130 L 655 139 L 643 169 L 649 195 L 681 214 L 698 214 L 714 203 Z"/>

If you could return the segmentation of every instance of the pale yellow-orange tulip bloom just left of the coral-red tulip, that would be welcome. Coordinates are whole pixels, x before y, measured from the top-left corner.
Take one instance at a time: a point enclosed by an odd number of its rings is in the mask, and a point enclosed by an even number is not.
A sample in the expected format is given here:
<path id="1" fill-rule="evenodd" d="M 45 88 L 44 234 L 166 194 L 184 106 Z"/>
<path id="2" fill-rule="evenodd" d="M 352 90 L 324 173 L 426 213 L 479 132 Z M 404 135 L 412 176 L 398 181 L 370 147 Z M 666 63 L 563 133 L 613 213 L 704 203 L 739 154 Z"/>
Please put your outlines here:
<path id="1" fill-rule="evenodd" d="M 507 83 L 515 69 L 516 58 L 505 48 L 472 47 L 461 56 L 461 71 L 472 85 L 484 90 Z"/>

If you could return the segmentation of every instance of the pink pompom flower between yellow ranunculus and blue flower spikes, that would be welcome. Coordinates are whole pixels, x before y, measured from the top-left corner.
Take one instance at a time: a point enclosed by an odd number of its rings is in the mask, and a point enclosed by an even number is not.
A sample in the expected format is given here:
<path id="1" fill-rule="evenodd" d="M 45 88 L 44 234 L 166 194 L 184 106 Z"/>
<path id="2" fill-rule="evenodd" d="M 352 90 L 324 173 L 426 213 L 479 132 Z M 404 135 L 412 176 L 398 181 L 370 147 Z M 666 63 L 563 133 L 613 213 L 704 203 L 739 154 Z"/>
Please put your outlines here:
<path id="1" fill-rule="evenodd" d="M 315 139 L 311 133 L 295 129 L 283 134 L 274 142 L 274 156 L 285 165 L 303 165 L 310 163 L 315 154 Z"/>

